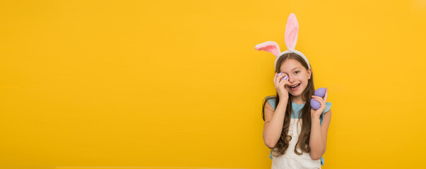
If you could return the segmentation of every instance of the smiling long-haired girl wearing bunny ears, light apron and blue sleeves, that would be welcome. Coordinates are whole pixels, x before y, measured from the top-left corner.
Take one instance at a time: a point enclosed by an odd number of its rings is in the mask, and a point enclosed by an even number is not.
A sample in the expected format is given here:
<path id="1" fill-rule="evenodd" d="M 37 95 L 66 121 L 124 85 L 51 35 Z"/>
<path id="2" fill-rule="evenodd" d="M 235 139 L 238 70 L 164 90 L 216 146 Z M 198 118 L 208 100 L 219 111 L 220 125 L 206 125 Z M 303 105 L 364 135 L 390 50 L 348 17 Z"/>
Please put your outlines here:
<path id="1" fill-rule="evenodd" d="M 276 42 L 264 42 L 255 47 L 276 56 L 273 78 L 276 96 L 267 96 L 262 105 L 263 137 L 271 149 L 273 169 L 321 168 L 324 165 L 322 155 L 326 151 L 331 103 L 326 102 L 327 89 L 324 98 L 314 96 L 312 68 L 306 56 L 295 50 L 297 30 L 297 20 L 291 13 L 285 27 L 288 51 L 281 53 Z M 319 109 L 311 108 L 311 99 L 319 101 Z"/>

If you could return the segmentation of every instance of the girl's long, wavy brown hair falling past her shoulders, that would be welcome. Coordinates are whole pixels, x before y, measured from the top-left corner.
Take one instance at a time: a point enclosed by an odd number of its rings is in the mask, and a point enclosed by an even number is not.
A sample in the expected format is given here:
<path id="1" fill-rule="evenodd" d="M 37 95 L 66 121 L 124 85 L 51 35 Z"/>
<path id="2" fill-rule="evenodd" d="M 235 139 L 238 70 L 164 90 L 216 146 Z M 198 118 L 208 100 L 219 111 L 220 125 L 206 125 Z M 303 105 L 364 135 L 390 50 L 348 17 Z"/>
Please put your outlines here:
<path id="1" fill-rule="evenodd" d="M 302 58 L 302 56 L 299 56 L 295 53 L 289 53 L 284 54 L 284 56 L 281 56 L 278 58 L 277 65 L 276 65 L 276 73 L 280 73 L 281 65 L 284 63 L 285 60 L 294 58 L 296 61 L 299 61 L 304 68 L 308 70 L 308 65 Z M 314 87 L 314 73 L 311 73 L 311 77 L 308 80 L 308 84 L 306 89 L 302 92 L 302 99 L 305 102 L 302 110 L 300 110 L 299 113 L 299 119 L 302 119 L 302 130 L 300 131 L 299 138 L 297 139 L 297 144 L 295 146 L 295 154 L 302 155 L 302 152 L 309 153 L 311 151 L 309 147 L 309 137 L 311 133 L 311 96 L 314 95 L 315 87 Z M 290 127 L 290 118 L 292 113 L 292 105 L 291 105 L 291 98 L 293 97 L 291 94 L 288 95 L 288 102 L 287 102 L 287 108 L 285 109 L 285 118 L 284 118 L 284 124 L 283 124 L 283 130 L 281 132 L 280 139 L 278 139 L 278 142 L 276 146 L 273 147 L 272 152 L 273 156 L 281 156 L 285 154 L 285 150 L 288 149 L 289 142 L 291 140 L 291 136 L 288 135 L 288 128 Z M 278 103 L 280 101 L 280 97 L 278 96 L 278 92 L 276 93 L 276 96 L 268 96 L 265 97 L 263 104 L 262 104 L 262 118 L 265 121 L 265 104 L 266 101 L 269 99 L 276 99 L 275 101 L 275 107 L 278 106 Z M 302 152 L 297 151 L 297 147 L 302 150 Z"/>

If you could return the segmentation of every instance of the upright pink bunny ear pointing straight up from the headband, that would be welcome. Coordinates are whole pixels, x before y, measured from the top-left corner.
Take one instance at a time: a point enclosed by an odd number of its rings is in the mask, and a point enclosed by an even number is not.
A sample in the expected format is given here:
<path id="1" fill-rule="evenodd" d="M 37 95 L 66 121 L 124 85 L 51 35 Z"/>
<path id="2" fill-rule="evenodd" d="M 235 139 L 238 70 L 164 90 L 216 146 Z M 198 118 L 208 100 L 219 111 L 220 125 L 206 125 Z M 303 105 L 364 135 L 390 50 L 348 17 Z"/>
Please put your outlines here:
<path id="1" fill-rule="evenodd" d="M 297 43 L 297 33 L 299 32 L 299 23 L 295 13 L 290 13 L 287 19 L 287 25 L 285 25 L 285 45 L 288 50 L 294 50 Z"/>

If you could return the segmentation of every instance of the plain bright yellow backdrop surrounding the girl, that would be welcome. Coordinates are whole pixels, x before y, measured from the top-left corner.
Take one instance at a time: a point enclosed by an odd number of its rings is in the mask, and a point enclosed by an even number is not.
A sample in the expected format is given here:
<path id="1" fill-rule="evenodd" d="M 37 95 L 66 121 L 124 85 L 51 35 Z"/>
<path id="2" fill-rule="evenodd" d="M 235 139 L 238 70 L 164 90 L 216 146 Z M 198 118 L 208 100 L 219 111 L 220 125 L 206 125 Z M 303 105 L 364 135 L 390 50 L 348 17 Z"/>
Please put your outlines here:
<path id="1" fill-rule="evenodd" d="M 323 168 L 422 168 L 426 1 L 1 1 L 0 168 L 271 168 L 288 15 L 333 117 Z"/>

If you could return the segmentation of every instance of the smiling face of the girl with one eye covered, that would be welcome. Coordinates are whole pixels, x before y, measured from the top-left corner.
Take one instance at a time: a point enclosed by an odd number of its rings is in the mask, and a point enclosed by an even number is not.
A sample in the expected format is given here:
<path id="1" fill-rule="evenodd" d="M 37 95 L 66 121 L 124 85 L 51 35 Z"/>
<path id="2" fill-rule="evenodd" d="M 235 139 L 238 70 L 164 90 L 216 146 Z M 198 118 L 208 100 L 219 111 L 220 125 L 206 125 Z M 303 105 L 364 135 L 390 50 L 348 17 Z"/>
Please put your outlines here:
<path id="1" fill-rule="evenodd" d="M 294 58 L 286 59 L 280 67 L 280 73 L 286 73 L 288 75 L 288 81 L 292 86 L 285 85 L 285 88 L 292 96 L 300 96 L 304 89 L 306 89 L 307 82 L 311 78 L 311 72 L 311 69 L 306 70 L 306 68 Z"/>

